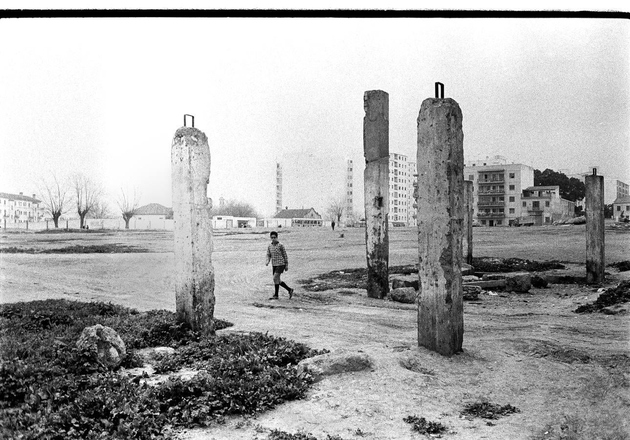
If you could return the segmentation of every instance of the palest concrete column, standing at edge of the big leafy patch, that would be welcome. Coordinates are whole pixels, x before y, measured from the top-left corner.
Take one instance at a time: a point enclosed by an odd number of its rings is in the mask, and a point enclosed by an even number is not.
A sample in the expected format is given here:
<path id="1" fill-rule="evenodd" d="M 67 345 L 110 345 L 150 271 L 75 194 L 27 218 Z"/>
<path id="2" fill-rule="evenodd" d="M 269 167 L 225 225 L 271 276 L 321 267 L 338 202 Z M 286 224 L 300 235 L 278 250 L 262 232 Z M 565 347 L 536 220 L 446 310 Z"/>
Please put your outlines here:
<path id="1" fill-rule="evenodd" d="M 175 233 L 175 304 L 180 321 L 214 334 L 212 219 L 207 198 L 210 148 L 192 127 L 175 132 L 171 146 Z"/>

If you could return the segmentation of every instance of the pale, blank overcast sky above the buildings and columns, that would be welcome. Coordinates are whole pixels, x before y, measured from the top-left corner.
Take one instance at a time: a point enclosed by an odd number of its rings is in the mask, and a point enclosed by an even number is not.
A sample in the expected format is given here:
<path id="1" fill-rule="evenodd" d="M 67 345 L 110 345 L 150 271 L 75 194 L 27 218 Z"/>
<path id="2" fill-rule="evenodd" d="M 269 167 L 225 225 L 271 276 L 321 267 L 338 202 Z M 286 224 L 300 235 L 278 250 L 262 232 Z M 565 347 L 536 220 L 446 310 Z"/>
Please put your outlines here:
<path id="1" fill-rule="evenodd" d="M 464 116 L 467 157 L 630 183 L 627 20 L 508 18 L 42 18 L 0 20 L 0 191 L 83 171 L 112 200 L 171 204 L 183 114 L 209 137 L 209 196 L 321 210 L 355 161 L 363 94 L 389 93 L 392 153 L 416 154 L 433 83 Z M 10 42 L 10 43 L 8 43 Z"/>

